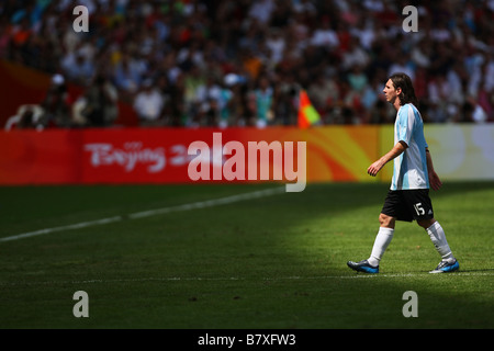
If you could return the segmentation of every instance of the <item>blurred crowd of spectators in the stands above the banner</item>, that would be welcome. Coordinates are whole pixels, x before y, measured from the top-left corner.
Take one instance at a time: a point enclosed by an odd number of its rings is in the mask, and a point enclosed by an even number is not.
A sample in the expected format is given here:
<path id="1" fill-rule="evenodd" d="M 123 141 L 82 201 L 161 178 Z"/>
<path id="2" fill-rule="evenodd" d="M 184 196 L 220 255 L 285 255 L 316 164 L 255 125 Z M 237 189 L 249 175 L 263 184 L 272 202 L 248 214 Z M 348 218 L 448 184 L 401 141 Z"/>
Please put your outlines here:
<path id="1" fill-rule="evenodd" d="M 0 58 L 52 75 L 45 126 L 111 126 L 119 100 L 148 126 L 296 125 L 301 89 L 322 124 L 393 123 L 396 71 L 425 122 L 494 121 L 494 0 L 3 0 Z"/>

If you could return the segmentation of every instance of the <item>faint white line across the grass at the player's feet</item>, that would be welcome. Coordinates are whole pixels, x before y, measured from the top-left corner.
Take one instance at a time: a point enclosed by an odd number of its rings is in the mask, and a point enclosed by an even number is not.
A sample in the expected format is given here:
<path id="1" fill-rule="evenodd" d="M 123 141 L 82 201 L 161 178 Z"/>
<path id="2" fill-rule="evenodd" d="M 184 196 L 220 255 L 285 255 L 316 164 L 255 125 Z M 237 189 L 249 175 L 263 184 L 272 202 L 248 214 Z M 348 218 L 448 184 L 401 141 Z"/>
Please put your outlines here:
<path id="1" fill-rule="evenodd" d="M 429 276 L 437 279 L 438 276 L 480 276 L 494 275 L 494 272 L 454 272 L 445 274 L 424 273 L 395 273 L 395 274 L 352 274 L 352 275 L 321 275 L 321 276 L 279 276 L 279 278 L 240 278 L 240 276 L 218 276 L 218 278 L 201 278 L 201 276 L 168 276 L 168 278 L 136 278 L 136 279 L 93 279 L 83 281 L 45 281 L 45 282 L 0 282 L 0 286 L 15 285 L 54 285 L 54 284 L 111 284 L 111 283 L 142 283 L 142 282 L 190 282 L 190 281 L 282 281 L 282 280 L 333 280 L 333 279 L 380 279 L 380 278 L 415 278 Z"/>

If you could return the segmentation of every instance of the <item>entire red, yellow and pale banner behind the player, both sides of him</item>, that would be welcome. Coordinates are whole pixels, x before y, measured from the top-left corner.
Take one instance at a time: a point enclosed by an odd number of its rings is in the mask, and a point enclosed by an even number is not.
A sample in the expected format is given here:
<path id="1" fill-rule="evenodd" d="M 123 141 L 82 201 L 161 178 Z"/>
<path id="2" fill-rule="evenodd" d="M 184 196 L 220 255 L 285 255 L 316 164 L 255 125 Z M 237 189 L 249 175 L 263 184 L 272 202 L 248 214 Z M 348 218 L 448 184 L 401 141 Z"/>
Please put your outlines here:
<path id="1" fill-rule="evenodd" d="M 324 126 L 257 128 L 122 128 L 2 132 L 0 183 L 94 184 L 94 183 L 184 183 L 189 145 L 207 144 L 213 155 L 221 143 L 236 140 L 244 146 L 247 163 L 249 141 L 306 141 L 307 182 L 371 182 L 369 165 L 393 146 L 392 126 Z M 494 125 L 426 125 L 426 136 L 437 172 L 444 180 L 494 179 Z M 284 148 L 283 148 L 284 149 Z M 296 144 L 294 144 L 296 150 Z M 222 151 L 220 150 L 220 154 Z M 297 165 L 296 152 L 294 165 Z M 222 162 L 211 158 L 213 167 Z M 272 174 L 273 156 L 270 154 Z M 381 181 L 391 180 L 386 166 Z M 211 177 L 212 179 L 212 177 Z M 247 173 L 246 173 L 247 180 Z M 270 180 L 273 180 L 270 177 Z M 210 180 L 214 182 L 215 180 Z M 226 182 L 223 178 L 222 181 Z M 217 181 L 216 181 L 217 182 Z"/>

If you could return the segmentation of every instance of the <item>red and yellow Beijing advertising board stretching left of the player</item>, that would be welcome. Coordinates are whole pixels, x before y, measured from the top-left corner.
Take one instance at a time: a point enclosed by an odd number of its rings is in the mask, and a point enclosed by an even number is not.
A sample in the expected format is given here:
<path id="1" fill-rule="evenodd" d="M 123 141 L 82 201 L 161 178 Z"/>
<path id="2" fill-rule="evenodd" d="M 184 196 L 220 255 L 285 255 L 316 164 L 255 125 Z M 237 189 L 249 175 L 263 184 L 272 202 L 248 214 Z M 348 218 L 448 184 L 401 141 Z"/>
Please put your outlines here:
<path id="1" fill-rule="evenodd" d="M 1 132 L 0 184 L 357 181 L 377 140 L 375 127 Z"/>

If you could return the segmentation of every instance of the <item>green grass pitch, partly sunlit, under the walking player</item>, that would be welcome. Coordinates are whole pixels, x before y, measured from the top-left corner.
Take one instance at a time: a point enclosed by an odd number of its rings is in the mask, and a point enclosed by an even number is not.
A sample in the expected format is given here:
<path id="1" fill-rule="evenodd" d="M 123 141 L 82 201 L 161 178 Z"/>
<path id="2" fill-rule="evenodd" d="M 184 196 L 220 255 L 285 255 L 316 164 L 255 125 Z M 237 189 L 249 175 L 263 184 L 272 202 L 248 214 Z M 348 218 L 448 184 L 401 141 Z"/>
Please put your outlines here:
<path id="1" fill-rule="evenodd" d="M 415 223 L 397 223 L 380 274 L 346 267 L 368 258 L 388 184 L 235 197 L 280 186 L 0 188 L 0 328 L 494 327 L 494 182 L 431 192 L 451 274 L 427 273 L 440 257 Z M 132 215 L 156 208 L 171 210 Z M 72 314 L 77 291 L 89 318 Z M 406 291 L 418 317 L 403 316 Z"/>

